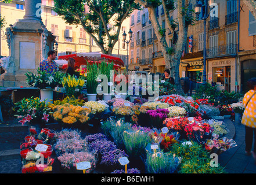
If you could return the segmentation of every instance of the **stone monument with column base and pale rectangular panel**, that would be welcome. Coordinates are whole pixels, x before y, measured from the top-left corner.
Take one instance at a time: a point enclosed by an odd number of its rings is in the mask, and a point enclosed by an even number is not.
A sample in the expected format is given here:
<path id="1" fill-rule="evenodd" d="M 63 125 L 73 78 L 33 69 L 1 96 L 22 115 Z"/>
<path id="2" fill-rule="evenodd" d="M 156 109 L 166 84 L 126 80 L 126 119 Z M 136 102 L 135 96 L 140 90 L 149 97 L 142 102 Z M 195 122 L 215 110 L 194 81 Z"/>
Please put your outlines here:
<path id="1" fill-rule="evenodd" d="M 6 28 L 9 56 L 1 58 L 5 73 L 0 76 L 0 86 L 27 87 L 24 73 L 36 73 L 40 61 L 54 49 L 56 36 L 42 23 L 41 6 L 41 0 L 26 0 L 23 19 Z"/>

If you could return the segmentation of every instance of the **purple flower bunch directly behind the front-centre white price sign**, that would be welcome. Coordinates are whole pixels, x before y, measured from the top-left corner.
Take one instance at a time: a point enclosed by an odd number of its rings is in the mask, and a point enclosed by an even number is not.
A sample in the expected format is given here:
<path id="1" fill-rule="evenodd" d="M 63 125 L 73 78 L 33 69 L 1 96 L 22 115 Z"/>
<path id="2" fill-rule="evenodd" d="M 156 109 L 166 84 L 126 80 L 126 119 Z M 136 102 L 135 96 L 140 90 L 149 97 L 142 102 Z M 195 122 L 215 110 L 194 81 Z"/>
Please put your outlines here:
<path id="1" fill-rule="evenodd" d="M 110 150 L 108 153 L 102 156 L 102 161 L 100 162 L 100 164 L 113 166 L 113 165 L 119 164 L 118 159 L 121 157 L 128 157 L 128 155 L 125 153 L 124 150 L 121 150 L 121 149 Z"/>

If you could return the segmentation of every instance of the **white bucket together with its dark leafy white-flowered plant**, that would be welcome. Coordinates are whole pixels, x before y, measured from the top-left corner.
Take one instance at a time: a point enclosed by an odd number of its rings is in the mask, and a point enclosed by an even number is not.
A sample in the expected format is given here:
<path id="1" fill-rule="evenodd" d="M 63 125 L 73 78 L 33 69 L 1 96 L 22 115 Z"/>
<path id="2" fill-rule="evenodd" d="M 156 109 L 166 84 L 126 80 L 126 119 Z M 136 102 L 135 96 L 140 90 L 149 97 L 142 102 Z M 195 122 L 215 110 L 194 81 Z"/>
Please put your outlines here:
<path id="1" fill-rule="evenodd" d="M 54 75 L 49 75 L 45 71 L 37 69 L 37 74 L 27 72 L 27 84 L 30 87 L 37 87 L 40 89 L 41 100 L 52 102 L 53 89 L 62 84 L 64 73 L 57 71 Z"/>

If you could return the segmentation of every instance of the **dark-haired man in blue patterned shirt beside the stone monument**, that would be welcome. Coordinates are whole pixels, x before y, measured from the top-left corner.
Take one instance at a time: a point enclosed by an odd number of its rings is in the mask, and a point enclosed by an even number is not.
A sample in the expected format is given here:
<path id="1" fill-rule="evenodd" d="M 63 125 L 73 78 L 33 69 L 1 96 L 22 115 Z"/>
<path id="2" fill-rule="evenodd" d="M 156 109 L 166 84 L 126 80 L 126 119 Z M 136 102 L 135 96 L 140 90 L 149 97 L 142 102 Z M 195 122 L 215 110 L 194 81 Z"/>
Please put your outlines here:
<path id="1" fill-rule="evenodd" d="M 47 53 L 48 58 L 45 60 L 42 60 L 39 65 L 40 71 L 45 71 L 49 75 L 54 75 L 54 73 L 57 71 L 57 64 L 54 61 L 56 58 L 55 51 L 51 50 Z"/>

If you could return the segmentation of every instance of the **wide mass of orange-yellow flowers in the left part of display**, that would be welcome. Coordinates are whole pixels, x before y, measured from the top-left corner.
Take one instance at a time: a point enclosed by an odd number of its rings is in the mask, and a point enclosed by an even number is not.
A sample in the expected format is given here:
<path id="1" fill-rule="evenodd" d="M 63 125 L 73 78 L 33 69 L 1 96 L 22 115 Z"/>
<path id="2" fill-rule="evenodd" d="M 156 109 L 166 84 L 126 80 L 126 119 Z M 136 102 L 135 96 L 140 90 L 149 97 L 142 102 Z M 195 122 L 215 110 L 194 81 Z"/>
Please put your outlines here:
<path id="1" fill-rule="evenodd" d="M 74 106 L 69 103 L 56 105 L 52 110 L 54 112 L 52 115 L 53 119 L 66 124 L 74 124 L 77 121 L 86 123 L 90 119 L 89 114 L 92 112 L 91 108 L 82 108 L 81 106 Z"/>

